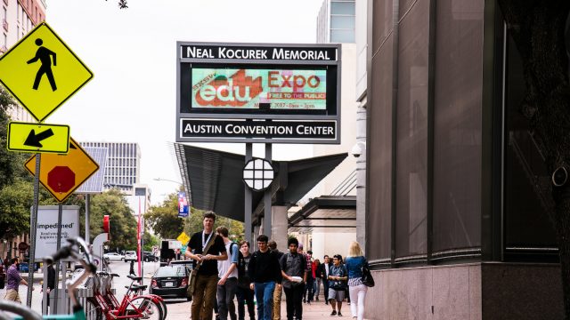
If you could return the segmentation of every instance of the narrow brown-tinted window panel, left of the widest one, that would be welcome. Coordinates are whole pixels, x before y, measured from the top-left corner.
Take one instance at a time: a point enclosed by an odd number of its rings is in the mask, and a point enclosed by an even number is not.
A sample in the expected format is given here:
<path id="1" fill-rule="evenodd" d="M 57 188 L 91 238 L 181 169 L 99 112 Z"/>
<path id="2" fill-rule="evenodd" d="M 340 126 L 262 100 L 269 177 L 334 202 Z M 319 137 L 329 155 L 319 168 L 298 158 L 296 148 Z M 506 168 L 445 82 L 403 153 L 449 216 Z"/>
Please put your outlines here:
<path id="1" fill-rule="evenodd" d="M 428 250 L 429 2 L 400 24 L 396 113 L 396 257 Z"/>

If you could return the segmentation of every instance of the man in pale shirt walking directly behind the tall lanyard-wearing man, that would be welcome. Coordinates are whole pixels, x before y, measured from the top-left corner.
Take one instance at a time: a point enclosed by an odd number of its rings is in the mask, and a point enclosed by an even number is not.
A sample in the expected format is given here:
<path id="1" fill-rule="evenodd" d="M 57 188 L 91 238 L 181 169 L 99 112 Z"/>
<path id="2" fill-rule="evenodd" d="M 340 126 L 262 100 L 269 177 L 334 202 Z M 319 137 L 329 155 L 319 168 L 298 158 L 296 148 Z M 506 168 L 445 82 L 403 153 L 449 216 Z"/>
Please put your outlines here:
<path id="1" fill-rule="evenodd" d="M 228 238 L 228 228 L 216 228 L 216 234 L 224 239 L 225 251 L 229 252 L 228 260 L 217 263 L 217 271 L 220 280 L 217 282 L 217 308 L 220 320 L 227 320 L 228 313 L 232 320 L 236 320 L 233 297 L 238 288 L 238 259 L 240 250 L 238 244 Z"/>

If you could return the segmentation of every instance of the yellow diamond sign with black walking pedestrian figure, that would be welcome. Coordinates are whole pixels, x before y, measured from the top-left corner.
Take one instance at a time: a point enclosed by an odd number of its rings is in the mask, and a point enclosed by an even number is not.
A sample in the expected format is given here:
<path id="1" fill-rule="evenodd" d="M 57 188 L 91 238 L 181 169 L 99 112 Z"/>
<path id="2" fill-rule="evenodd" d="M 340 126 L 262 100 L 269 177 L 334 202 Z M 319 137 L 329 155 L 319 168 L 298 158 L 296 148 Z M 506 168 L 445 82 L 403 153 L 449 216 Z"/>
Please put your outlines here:
<path id="1" fill-rule="evenodd" d="M 91 70 L 46 23 L 0 57 L 0 83 L 39 122 L 91 78 Z"/>

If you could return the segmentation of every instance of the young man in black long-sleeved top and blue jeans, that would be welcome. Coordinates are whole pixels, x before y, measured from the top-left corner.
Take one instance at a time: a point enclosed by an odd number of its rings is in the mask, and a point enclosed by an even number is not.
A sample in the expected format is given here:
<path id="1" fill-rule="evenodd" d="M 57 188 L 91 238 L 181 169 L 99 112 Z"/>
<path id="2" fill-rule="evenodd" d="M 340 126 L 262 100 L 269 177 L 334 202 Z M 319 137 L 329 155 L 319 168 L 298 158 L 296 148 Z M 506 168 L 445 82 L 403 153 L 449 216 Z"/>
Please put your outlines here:
<path id="1" fill-rule="evenodd" d="M 277 253 L 269 250 L 265 235 L 257 236 L 257 247 L 249 260 L 248 274 L 252 284 L 250 289 L 256 292 L 257 319 L 272 320 L 273 291 L 275 284 L 281 283 L 281 267 Z"/>

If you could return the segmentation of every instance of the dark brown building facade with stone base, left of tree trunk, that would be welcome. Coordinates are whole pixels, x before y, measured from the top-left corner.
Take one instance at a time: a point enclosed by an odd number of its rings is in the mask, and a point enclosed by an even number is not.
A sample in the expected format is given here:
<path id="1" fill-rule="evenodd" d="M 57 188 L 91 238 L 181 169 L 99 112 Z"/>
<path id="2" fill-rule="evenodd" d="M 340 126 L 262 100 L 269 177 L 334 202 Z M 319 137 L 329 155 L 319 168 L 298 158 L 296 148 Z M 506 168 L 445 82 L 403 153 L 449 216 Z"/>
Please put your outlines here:
<path id="1" fill-rule="evenodd" d="M 364 3 L 366 317 L 563 318 L 549 174 L 498 5 Z"/>

